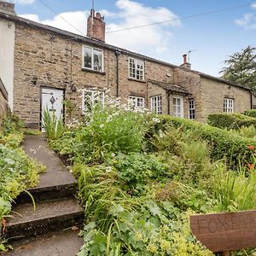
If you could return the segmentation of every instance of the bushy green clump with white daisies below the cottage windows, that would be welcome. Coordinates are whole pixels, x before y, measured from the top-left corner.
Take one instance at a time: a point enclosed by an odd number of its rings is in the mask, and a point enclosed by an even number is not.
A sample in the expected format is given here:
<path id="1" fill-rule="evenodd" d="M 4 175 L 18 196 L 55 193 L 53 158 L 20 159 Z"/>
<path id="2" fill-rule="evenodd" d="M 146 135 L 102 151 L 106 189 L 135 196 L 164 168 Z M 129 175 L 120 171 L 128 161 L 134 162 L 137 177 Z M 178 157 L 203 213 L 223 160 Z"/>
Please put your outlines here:
<path id="1" fill-rule="evenodd" d="M 82 125 L 64 132 L 51 145 L 63 155 L 73 155 L 73 160 L 102 162 L 112 153 L 141 151 L 145 125 L 143 113 L 96 105 Z"/>

